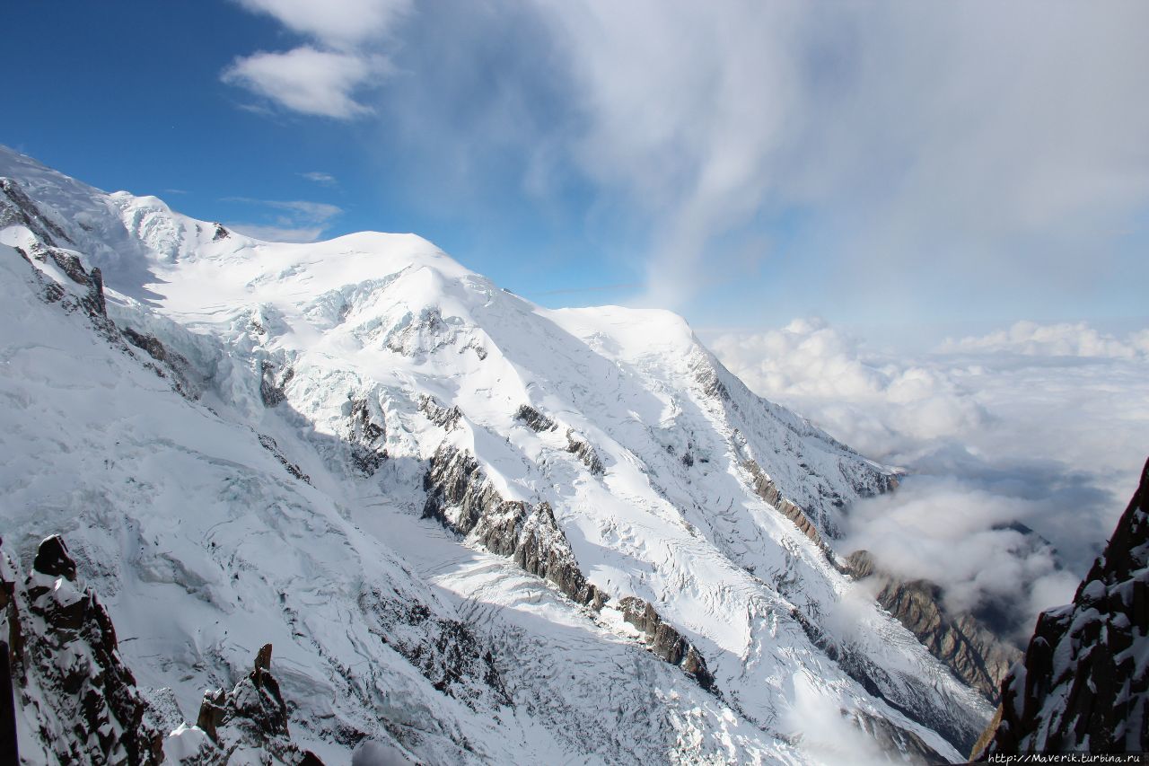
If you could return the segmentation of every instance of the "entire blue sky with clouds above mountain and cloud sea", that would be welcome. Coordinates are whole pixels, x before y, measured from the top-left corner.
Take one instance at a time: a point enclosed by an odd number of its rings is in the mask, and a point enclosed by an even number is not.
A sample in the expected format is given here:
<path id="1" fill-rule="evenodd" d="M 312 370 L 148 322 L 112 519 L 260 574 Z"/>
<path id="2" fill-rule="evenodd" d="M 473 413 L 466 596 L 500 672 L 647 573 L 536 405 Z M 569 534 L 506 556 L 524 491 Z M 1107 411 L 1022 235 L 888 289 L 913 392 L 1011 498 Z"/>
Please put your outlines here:
<path id="1" fill-rule="evenodd" d="M 269 237 L 415 231 L 549 306 L 1125 330 L 1149 314 L 1147 14 L 3 3 L 0 143 Z"/>

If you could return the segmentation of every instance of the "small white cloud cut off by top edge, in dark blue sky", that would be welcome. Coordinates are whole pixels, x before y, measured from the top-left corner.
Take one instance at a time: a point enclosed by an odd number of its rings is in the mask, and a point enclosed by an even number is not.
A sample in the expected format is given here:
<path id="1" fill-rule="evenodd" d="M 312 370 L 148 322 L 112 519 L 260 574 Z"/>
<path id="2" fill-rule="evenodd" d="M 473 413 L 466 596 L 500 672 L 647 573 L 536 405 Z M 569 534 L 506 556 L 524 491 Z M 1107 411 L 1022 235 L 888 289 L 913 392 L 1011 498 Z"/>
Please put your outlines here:
<path id="1" fill-rule="evenodd" d="M 410 0 L 239 0 L 239 3 L 333 47 L 362 44 L 386 33 L 411 6 Z"/>

